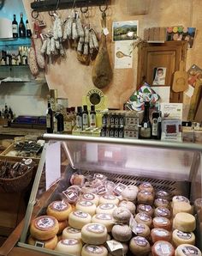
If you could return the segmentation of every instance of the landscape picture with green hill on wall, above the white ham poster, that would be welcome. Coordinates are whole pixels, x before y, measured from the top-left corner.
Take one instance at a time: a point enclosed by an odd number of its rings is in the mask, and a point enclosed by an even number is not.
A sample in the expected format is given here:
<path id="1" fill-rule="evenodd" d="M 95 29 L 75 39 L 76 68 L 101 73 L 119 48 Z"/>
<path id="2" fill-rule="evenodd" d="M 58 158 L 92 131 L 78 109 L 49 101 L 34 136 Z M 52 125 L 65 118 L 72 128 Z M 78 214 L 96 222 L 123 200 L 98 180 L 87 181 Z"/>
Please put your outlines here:
<path id="1" fill-rule="evenodd" d="M 112 23 L 113 40 L 137 40 L 138 21 L 116 21 Z"/>

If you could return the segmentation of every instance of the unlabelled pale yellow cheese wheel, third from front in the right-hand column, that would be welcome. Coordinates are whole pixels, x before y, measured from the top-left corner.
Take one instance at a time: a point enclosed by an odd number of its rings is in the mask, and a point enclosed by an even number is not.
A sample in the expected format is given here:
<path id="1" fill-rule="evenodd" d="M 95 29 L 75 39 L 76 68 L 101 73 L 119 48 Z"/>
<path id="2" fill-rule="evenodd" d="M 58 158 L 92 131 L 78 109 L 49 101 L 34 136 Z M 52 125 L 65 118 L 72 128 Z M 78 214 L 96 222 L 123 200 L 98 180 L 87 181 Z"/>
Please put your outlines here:
<path id="1" fill-rule="evenodd" d="M 193 232 L 196 229 L 196 220 L 193 215 L 187 212 L 180 212 L 175 215 L 173 226 L 174 229 L 179 229 L 183 232 Z"/>

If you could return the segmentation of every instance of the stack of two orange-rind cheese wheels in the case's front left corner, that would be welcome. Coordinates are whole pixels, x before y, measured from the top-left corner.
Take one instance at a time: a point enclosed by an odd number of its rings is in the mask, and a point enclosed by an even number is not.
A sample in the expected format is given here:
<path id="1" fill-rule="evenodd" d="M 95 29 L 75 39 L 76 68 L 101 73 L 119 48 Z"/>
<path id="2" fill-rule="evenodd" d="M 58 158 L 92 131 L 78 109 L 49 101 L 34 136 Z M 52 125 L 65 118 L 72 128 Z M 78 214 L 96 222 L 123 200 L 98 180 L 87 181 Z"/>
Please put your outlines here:
<path id="1" fill-rule="evenodd" d="M 28 243 L 34 245 L 42 243 L 43 247 L 53 249 L 56 247 L 56 234 L 59 230 L 59 224 L 54 216 L 39 216 L 30 224 L 30 234 Z"/>

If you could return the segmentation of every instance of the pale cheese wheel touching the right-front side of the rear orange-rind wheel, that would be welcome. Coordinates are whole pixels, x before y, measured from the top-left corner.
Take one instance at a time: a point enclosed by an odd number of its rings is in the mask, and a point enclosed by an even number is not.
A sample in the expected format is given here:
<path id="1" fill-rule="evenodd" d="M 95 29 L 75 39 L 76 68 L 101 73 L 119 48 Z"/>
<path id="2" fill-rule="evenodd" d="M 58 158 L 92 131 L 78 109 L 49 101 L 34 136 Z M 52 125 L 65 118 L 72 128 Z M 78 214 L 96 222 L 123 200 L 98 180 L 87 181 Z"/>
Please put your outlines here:
<path id="1" fill-rule="evenodd" d="M 92 216 L 82 210 L 75 210 L 68 216 L 68 224 L 74 229 L 82 229 L 84 225 L 92 222 Z"/>

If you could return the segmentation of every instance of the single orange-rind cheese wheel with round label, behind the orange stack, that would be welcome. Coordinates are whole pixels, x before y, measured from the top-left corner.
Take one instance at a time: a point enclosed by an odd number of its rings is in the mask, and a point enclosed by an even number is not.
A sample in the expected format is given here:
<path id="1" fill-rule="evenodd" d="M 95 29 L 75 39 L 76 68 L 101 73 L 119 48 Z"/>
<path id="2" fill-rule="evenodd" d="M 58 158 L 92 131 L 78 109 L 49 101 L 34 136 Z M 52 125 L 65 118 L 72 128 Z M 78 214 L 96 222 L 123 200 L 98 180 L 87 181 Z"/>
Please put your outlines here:
<path id="1" fill-rule="evenodd" d="M 46 214 L 55 216 L 57 221 L 62 222 L 68 219 L 68 215 L 71 211 L 72 207 L 68 202 L 54 201 L 47 207 Z"/>

